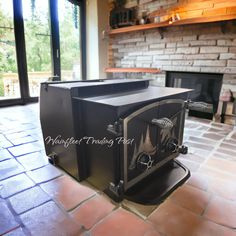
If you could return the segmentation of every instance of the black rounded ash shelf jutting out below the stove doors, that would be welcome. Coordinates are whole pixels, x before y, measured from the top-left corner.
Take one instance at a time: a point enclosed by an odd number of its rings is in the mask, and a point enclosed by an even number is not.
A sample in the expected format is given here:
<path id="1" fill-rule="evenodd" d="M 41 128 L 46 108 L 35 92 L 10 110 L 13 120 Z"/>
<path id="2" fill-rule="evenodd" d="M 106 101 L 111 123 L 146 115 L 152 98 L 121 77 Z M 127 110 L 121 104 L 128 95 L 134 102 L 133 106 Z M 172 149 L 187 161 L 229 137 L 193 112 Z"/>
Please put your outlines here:
<path id="1" fill-rule="evenodd" d="M 124 198 L 155 205 L 169 196 L 190 177 L 190 171 L 179 161 L 173 160 L 125 192 Z"/>

